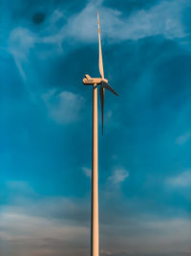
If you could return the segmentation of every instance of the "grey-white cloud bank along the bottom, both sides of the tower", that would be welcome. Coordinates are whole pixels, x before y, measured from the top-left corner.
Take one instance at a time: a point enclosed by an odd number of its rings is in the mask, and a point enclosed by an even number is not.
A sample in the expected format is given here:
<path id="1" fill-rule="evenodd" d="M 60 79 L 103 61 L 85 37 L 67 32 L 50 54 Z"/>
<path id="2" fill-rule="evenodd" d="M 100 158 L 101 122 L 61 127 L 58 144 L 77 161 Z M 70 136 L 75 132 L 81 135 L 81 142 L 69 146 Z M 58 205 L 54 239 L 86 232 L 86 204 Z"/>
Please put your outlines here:
<path id="1" fill-rule="evenodd" d="M 1 251 L 2 256 L 88 255 L 90 201 L 86 204 L 81 198 L 42 198 L 40 195 L 35 199 L 27 195 L 17 200 L 19 191 L 11 197 L 9 204 L 1 205 L 0 244 L 1 249 L 5 249 Z M 166 252 L 183 255 L 189 252 L 188 217 L 156 218 L 141 211 L 132 214 L 124 202 L 120 204 L 121 216 L 115 200 L 109 208 L 107 200 L 100 204 L 102 255 L 165 255 Z M 103 220 L 103 215 L 107 221 Z"/>

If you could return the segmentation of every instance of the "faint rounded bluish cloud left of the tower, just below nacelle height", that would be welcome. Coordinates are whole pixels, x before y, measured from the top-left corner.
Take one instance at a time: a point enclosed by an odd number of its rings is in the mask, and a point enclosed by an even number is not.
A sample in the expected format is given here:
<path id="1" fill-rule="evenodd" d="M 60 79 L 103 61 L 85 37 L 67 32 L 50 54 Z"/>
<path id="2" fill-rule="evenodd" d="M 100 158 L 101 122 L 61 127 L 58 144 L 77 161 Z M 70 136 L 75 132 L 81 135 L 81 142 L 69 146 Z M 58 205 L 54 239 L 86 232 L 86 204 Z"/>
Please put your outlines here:
<path id="1" fill-rule="evenodd" d="M 80 119 L 80 111 L 85 103 L 82 96 L 69 91 L 57 93 L 56 90 L 50 90 L 42 98 L 50 117 L 57 124 L 70 124 Z"/>

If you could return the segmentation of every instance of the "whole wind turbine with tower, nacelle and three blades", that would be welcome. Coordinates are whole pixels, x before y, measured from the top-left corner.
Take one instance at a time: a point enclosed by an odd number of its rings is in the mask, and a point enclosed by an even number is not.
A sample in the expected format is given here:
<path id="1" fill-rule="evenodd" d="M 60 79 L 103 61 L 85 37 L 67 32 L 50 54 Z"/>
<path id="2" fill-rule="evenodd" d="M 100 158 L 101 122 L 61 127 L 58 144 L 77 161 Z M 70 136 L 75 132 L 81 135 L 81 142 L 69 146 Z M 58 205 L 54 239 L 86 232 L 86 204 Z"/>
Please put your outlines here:
<path id="1" fill-rule="evenodd" d="M 107 89 L 117 95 L 115 90 L 109 85 L 108 81 L 104 78 L 98 12 L 97 12 L 97 23 L 98 23 L 98 46 L 99 46 L 98 67 L 99 67 L 100 78 L 91 78 L 89 75 L 85 75 L 85 78 L 83 79 L 84 85 L 93 85 L 91 256 L 99 255 L 99 245 L 98 245 L 97 86 L 99 85 L 99 95 L 100 95 L 100 102 L 101 102 L 102 134 L 103 134 L 103 109 L 104 109 L 105 89 Z"/>

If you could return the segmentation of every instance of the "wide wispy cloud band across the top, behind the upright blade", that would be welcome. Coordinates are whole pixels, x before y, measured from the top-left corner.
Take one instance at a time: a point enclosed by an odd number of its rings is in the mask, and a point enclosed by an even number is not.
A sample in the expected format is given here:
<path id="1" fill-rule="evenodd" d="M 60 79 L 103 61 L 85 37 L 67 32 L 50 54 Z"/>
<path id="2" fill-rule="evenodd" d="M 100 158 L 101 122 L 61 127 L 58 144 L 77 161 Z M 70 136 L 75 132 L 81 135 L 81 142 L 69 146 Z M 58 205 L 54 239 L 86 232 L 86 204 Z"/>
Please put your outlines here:
<path id="1" fill-rule="evenodd" d="M 26 27 L 15 27 L 11 30 L 8 39 L 8 51 L 15 59 L 21 76 L 26 80 L 24 63 L 29 58 L 32 48 L 38 50 L 38 58 L 48 58 L 63 54 L 63 42 L 65 38 L 72 41 L 92 43 L 97 41 L 96 10 L 99 11 L 101 36 L 107 37 L 110 43 L 120 40 L 138 40 L 146 36 L 163 35 L 166 38 L 181 38 L 186 36 L 181 23 L 182 10 L 190 6 L 188 1 L 161 1 L 149 10 L 133 12 L 127 18 L 120 15 L 115 9 L 105 8 L 102 1 L 89 1 L 86 7 L 63 22 L 61 28 L 56 27 L 58 20 L 66 20 L 67 13 L 64 10 L 53 10 L 51 18 L 47 21 L 46 33 L 36 34 Z M 41 47 L 39 45 L 49 45 Z M 52 45 L 52 50 L 50 50 Z M 38 47 L 38 48 L 35 48 Z M 73 48 L 77 47 L 73 45 Z M 67 53 L 70 51 L 67 48 Z M 29 62 L 29 61 L 28 61 Z M 29 62 L 30 63 L 30 62 Z"/>

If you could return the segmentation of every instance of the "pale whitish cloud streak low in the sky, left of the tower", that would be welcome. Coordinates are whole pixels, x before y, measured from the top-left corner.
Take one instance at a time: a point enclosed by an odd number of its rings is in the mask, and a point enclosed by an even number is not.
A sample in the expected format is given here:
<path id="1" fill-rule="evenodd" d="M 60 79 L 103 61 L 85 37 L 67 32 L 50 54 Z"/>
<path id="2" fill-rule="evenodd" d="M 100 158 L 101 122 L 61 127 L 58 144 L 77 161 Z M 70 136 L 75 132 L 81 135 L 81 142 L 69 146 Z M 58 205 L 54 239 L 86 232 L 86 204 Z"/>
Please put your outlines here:
<path id="1" fill-rule="evenodd" d="M 16 212 L 1 213 L 1 230 L 8 229 L 9 234 L 3 233 L 2 239 L 13 238 L 35 238 L 43 239 L 52 237 L 59 239 L 60 235 L 65 240 L 70 240 L 71 237 L 87 233 L 87 228 L 82 226 L 73 226 L 72 223 L 67 224 L 64 221 L 55 221 L 43 217 L 19 214 Z"/>

